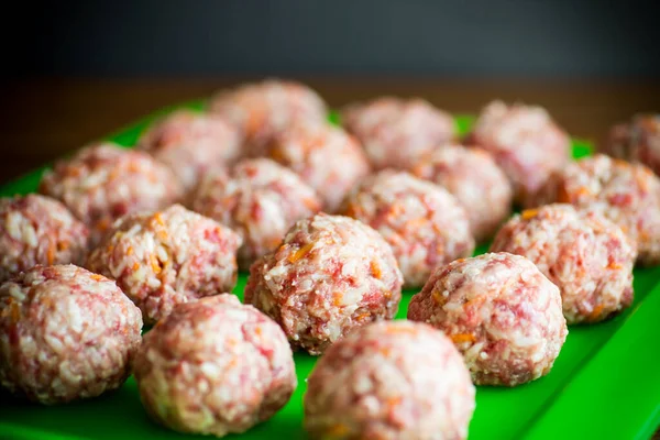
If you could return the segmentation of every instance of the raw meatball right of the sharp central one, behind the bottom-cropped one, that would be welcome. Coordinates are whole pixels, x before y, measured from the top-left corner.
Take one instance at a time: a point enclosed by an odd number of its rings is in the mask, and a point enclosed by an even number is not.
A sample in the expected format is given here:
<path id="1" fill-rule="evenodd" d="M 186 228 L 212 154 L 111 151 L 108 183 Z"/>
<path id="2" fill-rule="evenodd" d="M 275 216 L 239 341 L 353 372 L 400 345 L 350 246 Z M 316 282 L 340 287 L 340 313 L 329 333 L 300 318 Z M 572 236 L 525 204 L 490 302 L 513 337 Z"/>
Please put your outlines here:
<path id="1" fill-rule="evenodd" d="M 559 288 L 532 262 L 505 252 L 438 268 L 410 300 L 408 319 L 444 331 L 477 385 L 548 374 L 568 333 Z"/>

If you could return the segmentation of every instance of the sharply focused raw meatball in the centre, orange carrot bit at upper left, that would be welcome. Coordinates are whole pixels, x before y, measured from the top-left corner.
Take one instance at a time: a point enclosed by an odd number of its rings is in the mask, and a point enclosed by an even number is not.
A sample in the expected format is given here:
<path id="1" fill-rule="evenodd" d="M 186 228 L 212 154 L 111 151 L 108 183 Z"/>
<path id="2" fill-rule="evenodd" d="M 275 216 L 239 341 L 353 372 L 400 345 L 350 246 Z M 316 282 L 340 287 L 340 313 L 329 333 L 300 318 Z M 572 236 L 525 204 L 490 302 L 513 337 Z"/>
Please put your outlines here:
<path id="1" fill-rule="evenodd" d="M 319 213 L 298 221 L 277 250 L 252 265 L 245 302 L 275 319 L 294 349 L 320 354 L 358 327 L 392 319 L 402 283 L 376 231 Z"/>

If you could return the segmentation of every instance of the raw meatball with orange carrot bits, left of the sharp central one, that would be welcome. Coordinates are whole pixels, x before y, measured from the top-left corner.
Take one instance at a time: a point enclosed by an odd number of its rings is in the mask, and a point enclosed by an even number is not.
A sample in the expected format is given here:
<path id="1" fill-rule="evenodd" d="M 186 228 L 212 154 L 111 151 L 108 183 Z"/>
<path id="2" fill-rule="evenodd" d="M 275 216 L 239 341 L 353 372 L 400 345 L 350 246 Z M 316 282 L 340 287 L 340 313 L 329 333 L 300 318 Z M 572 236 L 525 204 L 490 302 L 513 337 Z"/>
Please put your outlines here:
<path id="1" fill-rule="evenodd" d="M 87 267 L 117 279 L 153 323 L 177 304 L 231 290 L 240 244 L 229 228 L 174 205 L 118 220 Z"/>

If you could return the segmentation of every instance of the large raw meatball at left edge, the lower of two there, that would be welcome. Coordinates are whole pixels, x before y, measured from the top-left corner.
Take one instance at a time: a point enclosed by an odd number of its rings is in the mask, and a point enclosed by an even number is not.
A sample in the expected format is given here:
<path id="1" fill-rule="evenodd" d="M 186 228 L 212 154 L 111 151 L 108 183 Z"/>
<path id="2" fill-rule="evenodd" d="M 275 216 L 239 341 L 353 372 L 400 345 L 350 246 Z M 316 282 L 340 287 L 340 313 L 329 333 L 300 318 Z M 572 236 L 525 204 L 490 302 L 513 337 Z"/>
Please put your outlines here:
<path id="1" fill-rule="evenodd" d="M 141 331 L 114 282 L 35 266 L 0 286 L 0 383 L 46 405 L 96 397 L 129 377 Z"/>

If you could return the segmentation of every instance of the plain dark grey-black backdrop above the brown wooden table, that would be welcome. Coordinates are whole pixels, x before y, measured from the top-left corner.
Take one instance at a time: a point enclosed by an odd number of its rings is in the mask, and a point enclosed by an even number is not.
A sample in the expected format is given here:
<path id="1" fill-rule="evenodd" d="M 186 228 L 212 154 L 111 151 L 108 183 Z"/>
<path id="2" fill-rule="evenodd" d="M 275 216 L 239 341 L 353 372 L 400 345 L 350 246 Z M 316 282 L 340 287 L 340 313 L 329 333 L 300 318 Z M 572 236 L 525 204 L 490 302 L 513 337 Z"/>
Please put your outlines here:
<path id="1" fill-rule="evenodd" d="M 660 78 L 660 1 L 23 2 L 6 74 Z"/>

